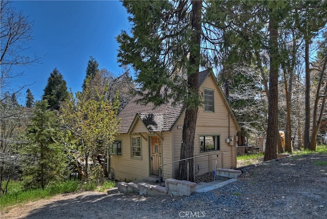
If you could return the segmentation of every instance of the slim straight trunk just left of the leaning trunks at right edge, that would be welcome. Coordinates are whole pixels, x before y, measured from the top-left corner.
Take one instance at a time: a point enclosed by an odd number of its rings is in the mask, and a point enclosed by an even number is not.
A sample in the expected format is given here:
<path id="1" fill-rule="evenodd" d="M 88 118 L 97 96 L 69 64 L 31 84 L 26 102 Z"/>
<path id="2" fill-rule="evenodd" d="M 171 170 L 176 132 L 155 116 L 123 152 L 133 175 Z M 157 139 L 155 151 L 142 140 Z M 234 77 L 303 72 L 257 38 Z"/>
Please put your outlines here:
<path id="1" fill-rule="evenodd" d="M 309 68 L 309 39 L 305 37 L 305 63 L 306 63 L 306 119 L 303 134 L 304 149 L 309 149 L 310 145 L 310 68 Z"/>

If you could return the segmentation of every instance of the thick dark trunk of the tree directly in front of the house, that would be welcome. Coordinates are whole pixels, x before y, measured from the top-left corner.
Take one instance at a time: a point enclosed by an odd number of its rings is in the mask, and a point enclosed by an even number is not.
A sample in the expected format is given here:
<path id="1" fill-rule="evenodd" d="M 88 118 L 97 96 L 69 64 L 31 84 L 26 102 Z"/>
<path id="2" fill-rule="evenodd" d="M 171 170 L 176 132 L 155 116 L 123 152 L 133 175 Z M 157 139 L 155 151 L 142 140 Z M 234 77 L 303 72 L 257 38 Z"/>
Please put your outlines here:
<path id="1" fill-rule="evenodd" d="M 192 26 L 192 39 L 190 45 L 190 63 L 188 67 L 188 96 L 189 100 L 185 104 L 185 117 L 182 132 L 182 143 L 180 147 L 180 159 L 193 157 L 194 152 L 194 137 L 195 127 L 199 108 L 199 54 L 201 43 L 201 7 L 202 1 L 192 1 L 191 11 L 191 26 Z M 188 163 L 189 162 L 189 172 Z M 189 176 L 189 178 L 188 178 Z M 180 180 L 194 181 L 193 172 L 193 159 L 179 162 L 179 175 Z"/>

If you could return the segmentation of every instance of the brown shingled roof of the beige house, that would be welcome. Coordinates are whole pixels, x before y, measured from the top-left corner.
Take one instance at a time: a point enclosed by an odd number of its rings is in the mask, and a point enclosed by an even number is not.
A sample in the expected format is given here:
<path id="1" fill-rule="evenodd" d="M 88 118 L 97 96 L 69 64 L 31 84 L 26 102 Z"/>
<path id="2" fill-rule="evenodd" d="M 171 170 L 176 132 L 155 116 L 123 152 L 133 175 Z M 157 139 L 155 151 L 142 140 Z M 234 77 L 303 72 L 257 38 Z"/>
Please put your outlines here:
<path id="1" fill-rule="evenodd" d="M 209 72 L 211 71 L 199 72 L 199 87 Z M 133 122 L 138 118 L 143 121 L 149 132 L 170 131 L 184 110 L 183 104 L 173 106 L 170 102 L 154 108 L 152 103 L 147 105 L 136 103 L 138 99 L 139 96 L 135 96 L 119 113 L 118 117 L 122 119 L 119 134 L 128 133 Z"/>

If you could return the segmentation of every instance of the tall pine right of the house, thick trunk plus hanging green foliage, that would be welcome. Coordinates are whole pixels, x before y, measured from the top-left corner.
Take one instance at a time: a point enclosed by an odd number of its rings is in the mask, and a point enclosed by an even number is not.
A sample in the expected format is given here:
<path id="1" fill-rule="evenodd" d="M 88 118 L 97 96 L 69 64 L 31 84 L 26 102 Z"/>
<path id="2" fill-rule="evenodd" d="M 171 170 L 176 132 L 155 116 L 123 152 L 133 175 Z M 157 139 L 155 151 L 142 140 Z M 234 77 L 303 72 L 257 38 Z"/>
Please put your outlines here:
<path id="1" fill-rule="evenodd" d="M 216 1 L 207 11 L 217 21 L 216 26 L 222 30 L 221 35 L 218 35 L 223 39 L 220 54 L 223 61 L 222 78 L 231 78 L 231 72 L 237 72 L 236 68 L 248 66 L 257 71 L 262 78 L 263 84 L 259 86 L 263 85 L 268 98 L 267 144 L 264 159 L 274 159 L 277 139 L 280 138 L 278 69 L 283 61 L 279 54 L 278 29 L 288 15 L 288 5 L 278 1 Z M 269 68 L 269 83 L 265 76 L 265 67 Z M 237 78 L 239 76 L 234 76 L 234 79 Z M 258 99 L 258 96 L 255 98 Z"/>

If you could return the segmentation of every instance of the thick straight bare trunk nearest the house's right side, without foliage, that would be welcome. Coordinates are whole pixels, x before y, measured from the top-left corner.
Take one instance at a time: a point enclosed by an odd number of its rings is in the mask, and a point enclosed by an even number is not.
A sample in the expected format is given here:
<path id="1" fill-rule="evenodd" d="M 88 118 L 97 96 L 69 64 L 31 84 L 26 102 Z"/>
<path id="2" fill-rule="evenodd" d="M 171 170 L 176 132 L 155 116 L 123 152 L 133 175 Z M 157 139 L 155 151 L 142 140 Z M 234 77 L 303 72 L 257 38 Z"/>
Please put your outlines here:
<path id="1" fill-rule="evenodd" d="M 268 128 L 267 144 L 264 161 L 277 158 L 276 141 L 278 133 L 278 22 L 276 12 L 270 9 L 269 15 L 269 47 L 270 47 L 270 69 L 269 69 L 269 97 L 268 97 Z"/>

